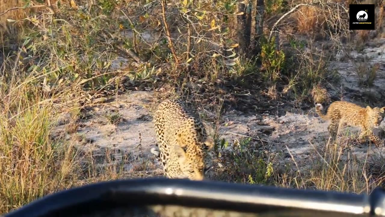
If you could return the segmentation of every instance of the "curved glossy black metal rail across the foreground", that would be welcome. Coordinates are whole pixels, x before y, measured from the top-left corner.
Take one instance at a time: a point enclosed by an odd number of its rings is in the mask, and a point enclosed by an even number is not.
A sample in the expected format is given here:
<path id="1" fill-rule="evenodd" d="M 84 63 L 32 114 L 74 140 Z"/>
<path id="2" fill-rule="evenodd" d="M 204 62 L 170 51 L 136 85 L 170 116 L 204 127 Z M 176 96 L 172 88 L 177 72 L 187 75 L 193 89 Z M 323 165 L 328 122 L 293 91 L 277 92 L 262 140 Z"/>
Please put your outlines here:
<path id="1" fill-rule="evenodd" d="M 107 214 L 109 210 L 120 210 L 114 216 L 148 216 L 151 212 L 155 216 L 385 216 L 384 198 L 382 188 L 370 195 L 357 195 L 149 178 L 72 188 L 40 198 L 4 217 L 112 216 Z M 189 211 L 183 213 L 183 209 Z M 122 210 L 134 211 L 124 214 Z"/>

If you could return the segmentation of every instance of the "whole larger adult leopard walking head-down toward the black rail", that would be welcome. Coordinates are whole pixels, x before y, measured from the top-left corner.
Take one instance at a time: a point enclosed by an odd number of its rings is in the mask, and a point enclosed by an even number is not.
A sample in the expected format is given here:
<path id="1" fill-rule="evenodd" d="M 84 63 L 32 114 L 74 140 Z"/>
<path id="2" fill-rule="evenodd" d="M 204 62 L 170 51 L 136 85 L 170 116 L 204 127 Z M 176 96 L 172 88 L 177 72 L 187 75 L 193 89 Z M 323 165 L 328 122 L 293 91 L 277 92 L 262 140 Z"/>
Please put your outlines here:
<path id="1" fill-rule="evenodd" d="M 211 168 L 214 141 L 201 119 L 179 99 L 160 103 L 154 115 L 158 148 L 151 149 L 167 178 L 203 180 Z"/>

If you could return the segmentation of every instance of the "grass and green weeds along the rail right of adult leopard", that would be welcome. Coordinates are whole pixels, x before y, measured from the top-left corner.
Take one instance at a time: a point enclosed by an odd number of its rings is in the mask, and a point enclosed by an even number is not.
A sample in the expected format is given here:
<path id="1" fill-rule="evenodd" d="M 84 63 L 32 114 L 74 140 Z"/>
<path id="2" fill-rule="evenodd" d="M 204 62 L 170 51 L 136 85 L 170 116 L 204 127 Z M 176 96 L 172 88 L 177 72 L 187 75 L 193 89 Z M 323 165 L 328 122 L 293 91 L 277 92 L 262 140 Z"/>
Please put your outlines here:
<path id="1" fill-rule="evenodd" d="M 261 141 L 260 141 L 261 142 Z M 341 136 L 335 144 L 326 142 L 316 147 L 309 162 L 298 166 L 292 153 L 292 163 L 284 165 L 279 154 L 258 151 L 260 142 L 251 138 L 236 140 L 233 144 L 222 141 L 220 163 L 216 178 L 239 183 L 258 183 L 289 188 L 332 190 L 339 192 L 370 193 L 382 186 L 385 179 L 381 154 L 362 161 L 351 155 L 349 147 L 358 144 L 351 136 Z M 230 166 L 231 165 L 231 166 Z"/>

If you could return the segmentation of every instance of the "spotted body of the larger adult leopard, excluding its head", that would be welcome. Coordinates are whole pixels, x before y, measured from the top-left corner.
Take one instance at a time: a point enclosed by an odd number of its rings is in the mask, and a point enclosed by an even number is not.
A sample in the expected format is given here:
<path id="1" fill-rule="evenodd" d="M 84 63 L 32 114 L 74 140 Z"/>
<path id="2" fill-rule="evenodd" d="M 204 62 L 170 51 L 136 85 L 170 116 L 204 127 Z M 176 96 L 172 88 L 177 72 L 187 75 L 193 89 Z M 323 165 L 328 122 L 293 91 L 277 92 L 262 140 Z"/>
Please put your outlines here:
<path id="1" fill-rule="evenodd" d="M 205 163 L 209 161 L 209 155 L 203 150 L 204 142 L 207 139 L 206 129 L 199 116 L 192 112 L 185 102 L 180 99 L 164 100 L 159 104 L 154 116 L 159 148 L 156 155 L 160 158 L 167 177 L 182 176 L 181 168 L 184 165 L 181 165 L 176 157 L 176 146 L 186 144 L 182 148 L 189 156 L 188 159 L 192 159 L 194 156 L 201 158 L 203 155 L 204 159 L 201 160 Z M 196 162 L 199 161 L 198 159 Z"/>

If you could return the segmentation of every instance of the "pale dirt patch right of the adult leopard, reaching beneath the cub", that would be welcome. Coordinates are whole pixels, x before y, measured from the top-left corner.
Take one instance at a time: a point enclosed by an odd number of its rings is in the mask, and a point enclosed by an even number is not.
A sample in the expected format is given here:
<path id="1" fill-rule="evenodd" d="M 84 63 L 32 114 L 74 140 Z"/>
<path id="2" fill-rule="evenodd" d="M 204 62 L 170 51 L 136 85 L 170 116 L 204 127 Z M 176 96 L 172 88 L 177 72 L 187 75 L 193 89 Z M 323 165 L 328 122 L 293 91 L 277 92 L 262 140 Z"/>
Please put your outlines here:
<path id="1" fill-rule="evenodd" d="M 310 112 L 309 114 L 295 114 L 287 112 L 283 116 L 262 115 L 239 117 L 235 114 L 225 114 L 229 120 L 227 126 L 220 128 L 221 138 L 230 141 L 238 141 L 245 138 L 253 138 L 259 147 L 271 155 L 275 155 L 276 163 L 290 164 L 293 168 L 295 163 L 304 167 L 311 161 L 311 155 L 325 149 L 328 143 L 328 121 L 323 121 L 320 117 Z M 382 123 L 380 128 L 384 128 Z M 380 131 L 378 129 L 377 131 Z M 375 131 L 375 132 L 377 132 Z M 379 133 L 379 132 L 377 132 Z M 375 146 L 358 145 L 355 141 L 359 134 L 357 127 L 345 127 L 340 132 L 340 140 L 350 139 L 346 150 L 341 159 L 346 159 L 348 153 L 357 159 L 364 160 L 370 149 L 374 151 L 383 151 L 385 147 L 377 148 Z"/>

